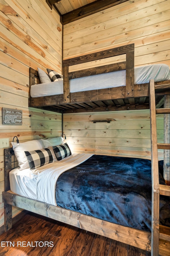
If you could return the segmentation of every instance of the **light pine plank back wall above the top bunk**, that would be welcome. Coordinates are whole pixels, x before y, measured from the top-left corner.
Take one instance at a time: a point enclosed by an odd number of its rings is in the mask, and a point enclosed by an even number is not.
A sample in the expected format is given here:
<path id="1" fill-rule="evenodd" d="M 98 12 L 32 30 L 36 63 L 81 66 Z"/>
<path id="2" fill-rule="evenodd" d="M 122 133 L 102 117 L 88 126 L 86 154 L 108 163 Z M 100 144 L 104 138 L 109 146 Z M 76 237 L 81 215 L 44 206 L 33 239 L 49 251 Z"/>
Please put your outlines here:
<path id="1" fill-rule="evenodd" d="M 169 17 L 169 0 L 134 0 L 68 23 L 63 26 L 63 58 L 134 43 L 135 66 L 170 66 Z"/>

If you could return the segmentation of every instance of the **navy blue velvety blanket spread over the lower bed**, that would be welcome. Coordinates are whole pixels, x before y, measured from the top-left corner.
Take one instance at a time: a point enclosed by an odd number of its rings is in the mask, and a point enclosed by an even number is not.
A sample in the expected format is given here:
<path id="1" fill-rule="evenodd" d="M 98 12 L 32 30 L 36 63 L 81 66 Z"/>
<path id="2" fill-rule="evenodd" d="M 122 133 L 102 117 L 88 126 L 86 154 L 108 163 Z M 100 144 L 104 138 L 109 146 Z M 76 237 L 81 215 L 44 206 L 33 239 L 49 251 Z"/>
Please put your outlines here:
<path id="1" fill-rule="evenodd" d="M 163 161 L 159 162 L 160 171 Z M 165 184 L 159 174 L 160 184 Z M 93 155 L 62 173 L 57 205 L 135 229 L 151 231 L 151 161 Z M 160 224 L 170 226 L 169 198 L 160 196 Z"/>

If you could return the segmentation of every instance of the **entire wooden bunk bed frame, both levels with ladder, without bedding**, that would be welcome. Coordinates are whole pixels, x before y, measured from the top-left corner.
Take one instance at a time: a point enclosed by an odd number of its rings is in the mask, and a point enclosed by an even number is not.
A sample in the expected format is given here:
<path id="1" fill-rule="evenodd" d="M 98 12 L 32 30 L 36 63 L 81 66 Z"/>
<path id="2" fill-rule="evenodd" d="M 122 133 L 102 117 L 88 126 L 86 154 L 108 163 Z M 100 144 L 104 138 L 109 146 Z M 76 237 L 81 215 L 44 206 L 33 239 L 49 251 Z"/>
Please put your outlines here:
<path id="1" fill-rule="evenodd" d="M 126 54 L 126 62 L 69 73 L 69 66 L 71 65 L 109 58 L 121 54 Z M 70 93 L 70 79 L 117 70 L 126 70 L 126 86 Z M 30 68 L 30 86 L 34 85 L 37 79 L 37 83 L 39 84 L 37 71 Z M 170 241 L 168 235 L 170 233 L 170 228 L 159 225 L 158 209 L 159 191 L 162 191 L 162 195 L 164 196 L 170 196 L 170 189 L 169 186 L 164 183 L 159 184 L 160 174 L 158 170 L 158 155 L 156 154 L 158 148 L 169 149 L 169 145 L 165 143 L 158 146 L 155 132 L 155 114 L 170 113 L 169 109 L 166 109 L 166 111 L 162 110 L 162 108 L 156 110 L 155 98 L 156 105 L 162 107 L 162 99 L 164 95 L 170 94 L 169 85 L 170 81 L 159 81 L 154 83 L 153 79 L 148 83 L 134 84 L 134 44 L 131 44 L 63 61 L 63 94 L 30 97 L 28 103 L 29 107 L 41 107 L 59 111 L 61 113 L 150 108 L 152 151 L 152 160 L 150 163 L 152 177 L 152 186 L 150 187 L 152 190 L 151 230 L 141 230 L 126 225 L 119 225 L 120 223 L 112 223 L 108 220 L 103 220 L 101 217 L 94 217 L 87 213 L 80 213 L 73 209 L 65 209 L 60 206 L 12 193 L 9 182 L 9 172 L 12 169 L 13 157 L 10 153 L 11 149 L 5 150 L 5 191 L 2 194 L 6 230 L 12 227 L 11 207 L 13 205 L 151 251 L 153 256 L 158 256 L 158 252 L 160 255 L 169 255 L 168 246 L 170 245 L 167 246 L 169 242 L 165 243 L 165 240 Z M 169 127 L 167 129 L 169 129 Z M 83 173 L 83 169 L 81 170 L 82 172 L 80 173 Z M 164 181 L 162 180 L 162 182 Z"/>

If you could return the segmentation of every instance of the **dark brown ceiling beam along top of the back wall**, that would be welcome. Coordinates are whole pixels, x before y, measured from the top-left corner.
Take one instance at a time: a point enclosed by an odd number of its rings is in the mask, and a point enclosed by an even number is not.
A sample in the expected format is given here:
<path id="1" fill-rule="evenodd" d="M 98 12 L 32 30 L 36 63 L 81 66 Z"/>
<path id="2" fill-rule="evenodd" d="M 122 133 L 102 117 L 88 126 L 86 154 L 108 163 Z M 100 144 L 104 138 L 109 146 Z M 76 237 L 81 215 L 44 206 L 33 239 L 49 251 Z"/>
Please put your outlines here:
<path id="1" fill-rule="evenodd" d="M 50 1 L 50 0 L 49 0 Z M 69 13 L 63 14 L 61 20 L 63 25 L 76 21 L 78 19 L 87 17 L 91 14 L 103 11 L 120 3 L 124 3 L 129 0 L 97 0 L 95 2 L 84 5 L 76 10 L 70 11 Z"/>

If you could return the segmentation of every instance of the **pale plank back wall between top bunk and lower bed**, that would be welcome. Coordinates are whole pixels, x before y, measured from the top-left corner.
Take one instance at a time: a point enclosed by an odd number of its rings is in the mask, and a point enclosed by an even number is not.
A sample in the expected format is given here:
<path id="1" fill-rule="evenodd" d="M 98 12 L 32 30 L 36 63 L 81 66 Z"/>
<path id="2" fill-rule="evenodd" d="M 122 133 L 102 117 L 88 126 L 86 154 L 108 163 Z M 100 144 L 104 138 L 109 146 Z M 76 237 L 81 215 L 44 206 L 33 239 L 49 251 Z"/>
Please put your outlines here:
<path id="1" fill-rule="evenodd" d="M 110 120 L 110 123 L 93 123 Z M 150 159 L 149 110 L 64 114 L 64 133 L 77 153 L 119 155 Z M 157 116 L 158 141 L 163 142 L 163 115 Z M 159 159 L 163 159 L 159 150 Z"/>

